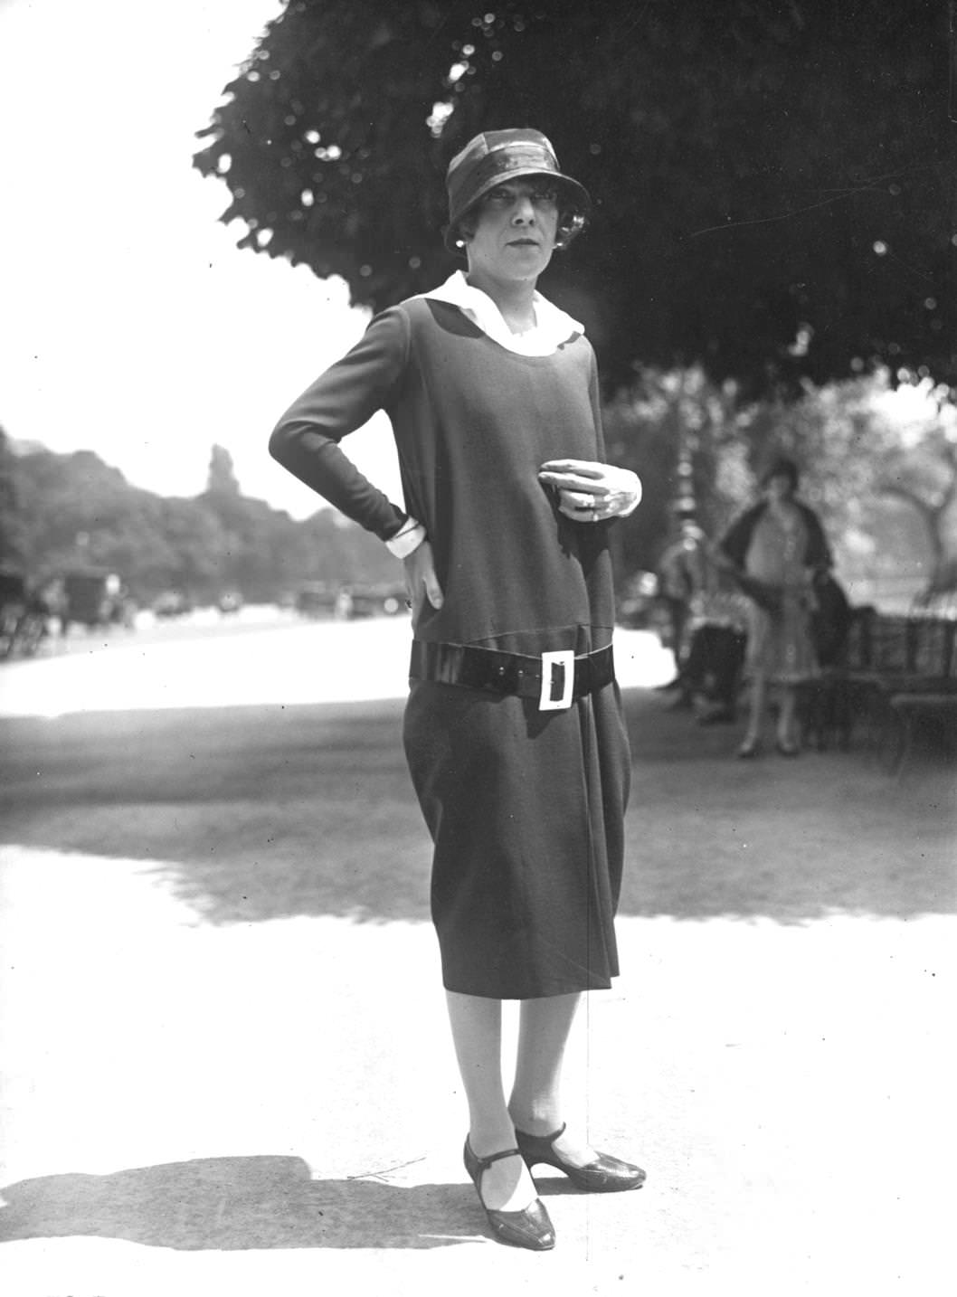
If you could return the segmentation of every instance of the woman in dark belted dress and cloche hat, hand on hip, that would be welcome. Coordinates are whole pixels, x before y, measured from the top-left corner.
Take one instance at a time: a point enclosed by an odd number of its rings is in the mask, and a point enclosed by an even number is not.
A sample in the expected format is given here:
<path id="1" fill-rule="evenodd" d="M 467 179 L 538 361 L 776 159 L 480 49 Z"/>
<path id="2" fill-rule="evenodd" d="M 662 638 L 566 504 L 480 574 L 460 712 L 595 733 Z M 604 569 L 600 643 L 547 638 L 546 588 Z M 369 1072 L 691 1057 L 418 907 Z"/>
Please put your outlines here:
<path id="1" fill-rule="evenodd" d="M 630 759 L 612 664 L 608 525 L 641 498 L 603 460 L 595 358 L 536 291 L 589 196 L 533 130 L 453 158 L 441 288 L 384 311 L 287 411 L 270 450 L 405 563 L 405 748 L 433 844 L 432 916 L 468 1099 L 466 1167 L 495 1236 L 555 1236 L 529 1169 L 582 1189 L 644 1172 L 565 1130 L 560 1073 L 581 994 L 617 974 Z M 389 415 L 405 507 L 340 440 Z M 515 1080 L 502 1000 L 520 1000 Z"/>

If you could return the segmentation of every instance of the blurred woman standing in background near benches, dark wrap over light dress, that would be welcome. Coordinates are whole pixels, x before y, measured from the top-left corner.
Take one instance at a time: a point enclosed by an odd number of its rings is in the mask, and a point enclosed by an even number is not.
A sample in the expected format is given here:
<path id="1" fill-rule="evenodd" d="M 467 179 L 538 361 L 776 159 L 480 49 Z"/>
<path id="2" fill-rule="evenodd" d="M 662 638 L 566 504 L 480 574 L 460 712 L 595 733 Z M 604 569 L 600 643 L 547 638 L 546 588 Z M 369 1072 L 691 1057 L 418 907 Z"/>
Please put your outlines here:
<path id="1" fill-rule="evenodd" d="M 795 498 L 797 482 L 797 466 L 783 457 L 775 459 L 761 481 L 765 498 L 721 541 L 721 553 L 751 601 L 746 660 L 751 696 L 739 757 L 761 751 L 768 685 L 781 691 L 778 752 L 799 754 L 796 686 L 818 673 L 810 623 L 813 582 L 830 568 L 831 554 L 817 514 Z"/>

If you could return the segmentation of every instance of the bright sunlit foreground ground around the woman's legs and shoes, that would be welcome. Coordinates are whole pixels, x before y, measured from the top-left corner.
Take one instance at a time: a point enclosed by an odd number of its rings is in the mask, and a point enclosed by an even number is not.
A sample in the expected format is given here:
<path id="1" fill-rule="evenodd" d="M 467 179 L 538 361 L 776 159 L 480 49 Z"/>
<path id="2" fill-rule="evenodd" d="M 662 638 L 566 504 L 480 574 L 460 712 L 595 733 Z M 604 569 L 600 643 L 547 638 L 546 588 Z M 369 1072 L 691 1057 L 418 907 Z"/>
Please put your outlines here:
<path id="1" fill-rule="evenodd" d="M 648 1182 L 549 1182 L 532 1255 L 460 1165 L 431 926 L 211 923 L 175 864 L 0 848 L 4 1293 L 952 1292 L 951 914 L 625 916 L 569 1109 Z"/>

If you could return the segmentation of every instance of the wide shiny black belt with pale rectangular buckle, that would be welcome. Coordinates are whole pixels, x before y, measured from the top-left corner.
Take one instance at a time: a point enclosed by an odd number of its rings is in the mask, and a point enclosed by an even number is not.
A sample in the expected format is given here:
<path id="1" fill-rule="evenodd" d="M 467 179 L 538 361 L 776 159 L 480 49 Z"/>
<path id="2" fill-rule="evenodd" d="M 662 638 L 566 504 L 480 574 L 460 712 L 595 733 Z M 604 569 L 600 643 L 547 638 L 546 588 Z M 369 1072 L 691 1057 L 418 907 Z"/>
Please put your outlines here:
<path id="1" fill-rule="evenodd" d="M 533 658 L 475 645 L 414 639 L 408 674 L 412 680 L 534 698 L 539 711 L 558 712 L 609 685 L 615 680 L 615 660 L 611 645 L 577 658 L 572 648 Z"/>

